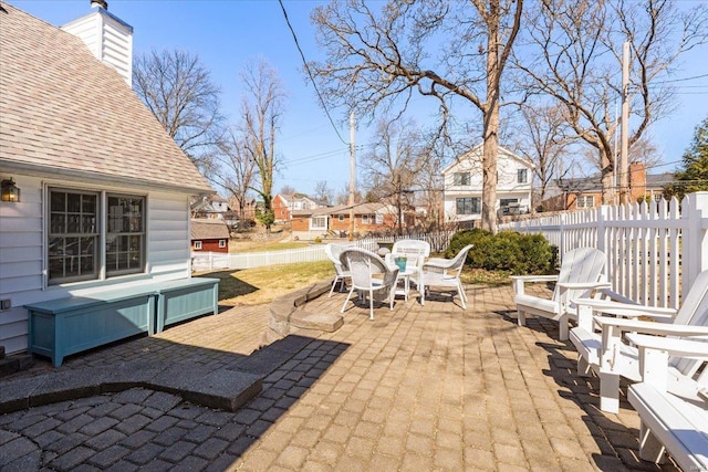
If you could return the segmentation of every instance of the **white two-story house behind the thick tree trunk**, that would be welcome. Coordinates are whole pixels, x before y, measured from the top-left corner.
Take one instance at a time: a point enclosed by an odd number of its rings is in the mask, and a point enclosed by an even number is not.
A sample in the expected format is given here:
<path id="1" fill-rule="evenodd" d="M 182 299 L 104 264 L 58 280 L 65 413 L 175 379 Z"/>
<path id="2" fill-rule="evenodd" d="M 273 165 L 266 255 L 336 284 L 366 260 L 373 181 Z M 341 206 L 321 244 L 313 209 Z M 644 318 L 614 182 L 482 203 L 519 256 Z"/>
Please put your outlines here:
<path id="1" fill-rule="evenodd" d="M 499 214 L 519 214 L 531 208 L 533 162 L 499 146 L 497 204 Z M 446 221 L 481 219 L 482 145 L 457 158 L 442 170 Z"/>

